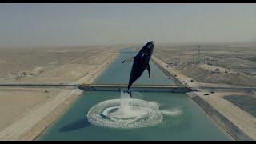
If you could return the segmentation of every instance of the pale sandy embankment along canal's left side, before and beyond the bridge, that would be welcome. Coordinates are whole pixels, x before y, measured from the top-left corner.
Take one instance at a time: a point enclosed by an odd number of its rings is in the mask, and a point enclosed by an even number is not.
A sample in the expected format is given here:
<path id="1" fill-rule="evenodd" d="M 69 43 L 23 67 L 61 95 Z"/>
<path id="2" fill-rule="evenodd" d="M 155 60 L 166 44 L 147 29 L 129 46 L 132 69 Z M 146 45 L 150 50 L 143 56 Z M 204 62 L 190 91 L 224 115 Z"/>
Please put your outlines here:
<path id="1" fill-rule="evenodd" d="M 77 82 L 73 82 L 72 84 L 93 82 L 94 79 L 114 61 L 117 55 L 118 54 L 114 54 L 90 74 L 87 74 L 84 78 L 80 78 Z M 17 122 L 14 122 L 5 130 L 2 130 L 0 132 L 0 140 L 34 140 L 39 134 L 46 130 L 52 122 L 57 120 L 82 92 L 83 91 L 79 89 L 61 90 L 53 99 L 40 106 L 34 107 L 34 109 L 24 114 Z"/>

